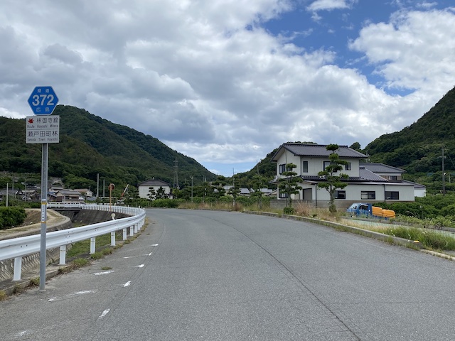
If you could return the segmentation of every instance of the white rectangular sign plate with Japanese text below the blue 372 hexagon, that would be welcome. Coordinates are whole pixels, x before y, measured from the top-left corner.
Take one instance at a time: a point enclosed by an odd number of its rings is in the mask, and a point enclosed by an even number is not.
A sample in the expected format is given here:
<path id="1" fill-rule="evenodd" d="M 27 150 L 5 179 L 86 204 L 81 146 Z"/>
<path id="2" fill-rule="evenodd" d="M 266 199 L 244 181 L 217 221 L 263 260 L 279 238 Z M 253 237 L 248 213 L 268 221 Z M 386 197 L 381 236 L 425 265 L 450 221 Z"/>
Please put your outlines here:
<path id="1" fill-rule="evenodd" d="M 26 144 L 58 144 L 60 116 L 26 117 Z"/>

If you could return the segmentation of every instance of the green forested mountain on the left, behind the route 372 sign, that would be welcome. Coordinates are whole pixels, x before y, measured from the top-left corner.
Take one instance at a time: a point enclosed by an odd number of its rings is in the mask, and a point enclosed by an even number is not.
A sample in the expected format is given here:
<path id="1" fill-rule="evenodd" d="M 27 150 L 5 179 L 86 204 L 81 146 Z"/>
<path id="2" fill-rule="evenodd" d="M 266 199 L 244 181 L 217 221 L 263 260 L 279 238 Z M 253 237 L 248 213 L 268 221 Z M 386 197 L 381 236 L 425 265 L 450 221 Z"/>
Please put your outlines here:
<path id="1" fill-rule="evenodd" d="M 68 187 L 95 188 L 98 174 L 117 188 L 150 178 L 173 185 L 176 169 L 180 184 L 192 175 L 216 178 L 158 139 L 84 109 L 58 105 L 53 115 L 60 115 L 60 143 L 49 144 L 48 175 L 63 178 Z M 23 119 L 0 117 L 0 171 L 41 173 L 41 144 L 26 144 L 25 136 Z"/>

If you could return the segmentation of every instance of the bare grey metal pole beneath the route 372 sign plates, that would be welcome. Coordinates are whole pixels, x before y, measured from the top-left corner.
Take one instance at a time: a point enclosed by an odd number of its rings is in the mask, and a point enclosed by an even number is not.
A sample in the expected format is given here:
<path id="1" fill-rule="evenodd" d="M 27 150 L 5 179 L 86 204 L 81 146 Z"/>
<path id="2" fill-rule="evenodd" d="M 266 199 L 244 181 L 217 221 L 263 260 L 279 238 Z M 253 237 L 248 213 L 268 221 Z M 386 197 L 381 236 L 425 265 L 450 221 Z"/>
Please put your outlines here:
<path id="1" fill-rule="evenodd" d="M 45 291 L 45 234 L 48 209 L 48 152 L 49 144 L 42 145 L 41 165 L 41 248 L 40 248 L 40 291 Z"/>

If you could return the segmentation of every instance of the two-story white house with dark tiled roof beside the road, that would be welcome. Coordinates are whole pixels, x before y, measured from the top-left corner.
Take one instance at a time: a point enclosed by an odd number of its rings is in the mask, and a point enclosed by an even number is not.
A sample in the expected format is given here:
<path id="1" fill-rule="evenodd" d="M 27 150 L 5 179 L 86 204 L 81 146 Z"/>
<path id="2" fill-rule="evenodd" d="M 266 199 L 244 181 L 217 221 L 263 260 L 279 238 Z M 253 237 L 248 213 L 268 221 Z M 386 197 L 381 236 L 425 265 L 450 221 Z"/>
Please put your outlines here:
<path id="1" fill-rule="evenodd" d="M 277 175 L 274 182 L 282 178 L 286 171 L 287 163 L 294 163 L 293 169 L 301 179 L 299 194 L 292 197 L 293 200 L 306 200 L 316 205 L 325 206 L 330 200 L 330 194 L 318 184 L 326 181 L 326 178 L 319 176 L 330 164 L 328 156 L 331 151 L 326 149 L 327 145 L 321 144 L 295 144 L 287 143 L 279 147 L 277 153 L 272 157 L 272 162 L 277 163 Z M 336 153 L 346 161 L 343 171 L 347 174 L 348 185 L 336 190 L 336 205 L 348 207 L 352 202 L 385 202 L 385 201 L 414 201 L 414 183 L 402 180 L 403 171 L 400 168 L 380 168 L 384 173 L 376 173 L 377 163 L 362 163 L 367 156 L 353 150 L 348 146 L 339 146 Z M 385 166 L 385 165 L 382 165 Z M 378 166 L 379 168 L 379 166 Z M 389 173 L 390 172 L 390 173 Z M 278 190 L 278 199 L 285 198 L 285 193 Z"/>

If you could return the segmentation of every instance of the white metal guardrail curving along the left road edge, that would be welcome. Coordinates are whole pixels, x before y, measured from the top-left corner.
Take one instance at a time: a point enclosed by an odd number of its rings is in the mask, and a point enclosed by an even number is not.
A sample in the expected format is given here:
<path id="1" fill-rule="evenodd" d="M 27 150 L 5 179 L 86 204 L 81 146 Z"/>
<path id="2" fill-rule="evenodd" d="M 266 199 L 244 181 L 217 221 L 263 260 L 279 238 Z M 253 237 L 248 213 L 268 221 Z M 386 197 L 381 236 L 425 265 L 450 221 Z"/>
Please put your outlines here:
<path id="1" fill-rule="evenodd" d="M 72 229 L 63 229 L 46 233 L 46 249 L 60 247 L 59 265 L 65 265 L 66 246 L 81 240 L 90 239 L 90 254 L 95 253 L 95 237 L 111 233 L 111 246 L 115 246 L 115 232 L 123 230 L 123 240 L 127 240 L 127 229 L 132 237 L 144 226 L 145 210 L 137 207 L 110 206 L 110 205 L 82 205 L 51 203 L 50 208 L 80 208 L 81 210 L 102 210 L 113 213 L 131 215 L 117 220 L 98 222 Z M 28 254 L 36 254 L 41 249 L 41 235 L 33 234 L 27 237 L 18 237 L 0 241 L 0 261 L 14 259 L 13 281 L 21 279 L 22 257 Z"/>

